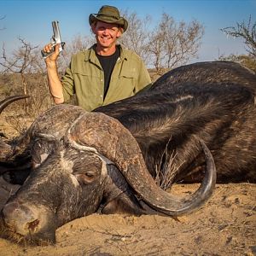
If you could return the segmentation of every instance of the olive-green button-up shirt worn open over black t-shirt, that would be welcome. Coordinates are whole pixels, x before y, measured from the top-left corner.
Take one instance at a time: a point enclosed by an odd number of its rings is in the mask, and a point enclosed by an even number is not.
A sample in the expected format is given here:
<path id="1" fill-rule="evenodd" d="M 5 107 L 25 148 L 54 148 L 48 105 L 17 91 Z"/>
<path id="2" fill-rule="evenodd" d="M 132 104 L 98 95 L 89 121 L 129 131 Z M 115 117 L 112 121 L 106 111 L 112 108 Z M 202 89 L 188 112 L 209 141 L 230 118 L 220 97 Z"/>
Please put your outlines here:
<path id="1" fill-rule="evenodd" d="M 141 58 L 135 52 L 120 47 L 120 56 L 113 67 L 104 99 L 104 73 L 91 47 L 73 55 L 61 83 L 65 102 L 76 94 L 79 106 L 91 111 L 137 94 L 151 84 L 151 79 Z"/>

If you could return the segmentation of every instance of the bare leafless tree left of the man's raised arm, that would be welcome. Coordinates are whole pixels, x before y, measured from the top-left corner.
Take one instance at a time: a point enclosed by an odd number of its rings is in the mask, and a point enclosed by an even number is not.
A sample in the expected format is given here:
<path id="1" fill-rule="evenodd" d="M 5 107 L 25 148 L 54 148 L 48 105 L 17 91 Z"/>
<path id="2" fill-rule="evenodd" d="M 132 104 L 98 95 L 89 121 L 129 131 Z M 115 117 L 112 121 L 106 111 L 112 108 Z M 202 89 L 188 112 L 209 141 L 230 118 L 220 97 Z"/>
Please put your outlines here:
<path id="1" fill-rule="evenodd" d="M 30 115 L 36 115 L 42 110 L 45 102 L 45 105 L 48 106 L 52 103 L 48 92 L 44 59 L 38 46 L 32 46 L 23 38 L 19 38 L 19 41 L 21 46 L 15 49 L 11 56 L 6 54 L 3 45 L 0 66 L 3 67 L 2 73 L 20 75 L 22 92 L 19 92 L 20 86 L 10 90 L 15 90 L 15 94 L 20 93 L 31 96 L 29 100 L 26 99 L 25 111 Z M 11 85 L 15 87 L 15 84 Z"/>

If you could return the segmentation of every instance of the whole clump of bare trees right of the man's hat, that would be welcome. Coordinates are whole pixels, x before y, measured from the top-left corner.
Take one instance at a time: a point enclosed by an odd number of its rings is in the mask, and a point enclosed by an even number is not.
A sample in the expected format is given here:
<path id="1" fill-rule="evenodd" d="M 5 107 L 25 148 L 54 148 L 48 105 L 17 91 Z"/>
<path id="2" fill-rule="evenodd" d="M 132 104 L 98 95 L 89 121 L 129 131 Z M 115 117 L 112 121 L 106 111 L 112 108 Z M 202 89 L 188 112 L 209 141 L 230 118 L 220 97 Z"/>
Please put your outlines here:
<path id="1" fill-rule="evenodd" d="M 149 29 L 151 18 L 141 20 L 136 13 L 125 14 L 130 26 L 121 43 L 143 57 L 143 61 L 154 67 L 158 75 L 167 70 L 186 64 L 201 45 L 203 26 L 197 21 L 177 22 L 163 13 L 161 20 Z"/>

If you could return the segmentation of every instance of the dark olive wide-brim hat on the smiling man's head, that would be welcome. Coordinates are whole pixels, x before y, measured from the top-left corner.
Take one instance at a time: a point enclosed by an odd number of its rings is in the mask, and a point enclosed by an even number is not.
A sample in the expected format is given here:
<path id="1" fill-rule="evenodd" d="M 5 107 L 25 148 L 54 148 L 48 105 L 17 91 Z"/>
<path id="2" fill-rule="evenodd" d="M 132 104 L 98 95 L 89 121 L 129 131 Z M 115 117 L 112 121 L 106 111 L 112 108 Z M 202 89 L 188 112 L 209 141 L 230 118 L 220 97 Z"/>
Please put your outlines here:
<path id="1" fill-rule="evenodd" d="M 124 32 L 128 27 L 128 21 L 120 16 L 119 9 L 109 5 L 103 5 L 97 14 L 89 16 L 90 26 L 95 21 L 117 24 L 124 29 Z"/>

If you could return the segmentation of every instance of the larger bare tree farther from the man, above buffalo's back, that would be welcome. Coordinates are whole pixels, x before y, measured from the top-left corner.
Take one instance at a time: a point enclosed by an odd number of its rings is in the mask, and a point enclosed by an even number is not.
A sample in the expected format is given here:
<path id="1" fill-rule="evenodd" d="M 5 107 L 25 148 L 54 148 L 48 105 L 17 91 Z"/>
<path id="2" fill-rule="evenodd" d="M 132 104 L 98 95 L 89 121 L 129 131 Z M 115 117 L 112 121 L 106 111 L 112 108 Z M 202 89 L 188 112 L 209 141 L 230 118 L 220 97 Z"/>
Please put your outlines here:
<path id="1" fill-rule="evenodd" d="M 185 64 L 195 57 L 201 45 L 204 28 L 197 20 L 177 23 L 170 15 L 162 14 L 160 23 L 149 35 L 147 50 L 158 74 Z"/>

